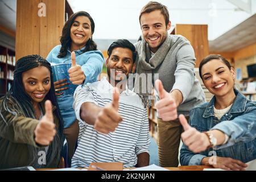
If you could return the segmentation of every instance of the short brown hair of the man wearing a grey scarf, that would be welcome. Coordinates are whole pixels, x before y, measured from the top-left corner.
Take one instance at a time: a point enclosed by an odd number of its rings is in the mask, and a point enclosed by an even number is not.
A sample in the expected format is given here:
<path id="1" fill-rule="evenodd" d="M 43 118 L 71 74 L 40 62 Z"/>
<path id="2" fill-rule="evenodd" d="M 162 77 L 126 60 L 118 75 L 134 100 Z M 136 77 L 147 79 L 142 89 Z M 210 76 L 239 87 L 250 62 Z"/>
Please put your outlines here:
<path id="1" fill-rule="evenodd" d="M 141 16 L 144 13 L 151 13 L 152 11 L 160 10 L 161 14 L 164 16 L 164 20 L 166 22 L 166 26 L 170 21 L 169 18 L 169 11 L 166 6 L 163 4 L 156 2 L 156 1 L 150 1 L 147 3 L 147 5 L 142 7 L 141 13 L 139 14 L 139 23 L 141 23 Z"/>

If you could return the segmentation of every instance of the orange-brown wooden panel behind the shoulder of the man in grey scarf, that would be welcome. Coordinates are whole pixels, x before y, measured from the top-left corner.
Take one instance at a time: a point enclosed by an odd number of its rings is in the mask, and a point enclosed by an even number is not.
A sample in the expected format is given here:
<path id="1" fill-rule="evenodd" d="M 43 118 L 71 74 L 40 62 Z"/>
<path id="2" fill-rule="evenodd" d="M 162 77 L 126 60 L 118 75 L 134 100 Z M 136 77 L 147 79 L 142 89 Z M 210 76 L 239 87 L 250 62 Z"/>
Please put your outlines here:
<path id="1" fill-rule="evenodd" d="M 208 25 L 207 24 L 176 24 L 175 34 L 183 35 L 189 40 L 195 50 L 196 65 L 199 64 L 205 56 L 209 55 L 208 43 Z"/>

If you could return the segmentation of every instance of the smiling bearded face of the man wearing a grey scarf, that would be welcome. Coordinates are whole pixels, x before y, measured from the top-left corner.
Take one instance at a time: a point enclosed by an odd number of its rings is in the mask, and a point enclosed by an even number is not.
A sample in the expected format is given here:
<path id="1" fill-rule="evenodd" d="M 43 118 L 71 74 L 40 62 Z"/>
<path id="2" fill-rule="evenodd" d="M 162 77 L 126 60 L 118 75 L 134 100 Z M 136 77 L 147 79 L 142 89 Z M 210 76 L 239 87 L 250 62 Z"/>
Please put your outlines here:
<path id="1" fill-rule="evenodd" d="M 171 27 L 171 22 L 166 26 L 164 15 L 160 10 L 144 13 L 141 15 L 141 30 L 144 40 L 148 43 L 152 52 L 156 52 L 167 37 L 167 30 Z"/>

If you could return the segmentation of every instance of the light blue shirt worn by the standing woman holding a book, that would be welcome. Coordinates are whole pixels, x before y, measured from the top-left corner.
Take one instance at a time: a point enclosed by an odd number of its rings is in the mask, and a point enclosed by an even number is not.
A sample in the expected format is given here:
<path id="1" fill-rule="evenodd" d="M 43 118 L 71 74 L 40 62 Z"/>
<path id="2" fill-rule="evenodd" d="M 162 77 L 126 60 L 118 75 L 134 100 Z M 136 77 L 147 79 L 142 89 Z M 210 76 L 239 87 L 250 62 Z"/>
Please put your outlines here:
<path id="1" fill-rule="evenodd" d="M 65 57 L 59 58 L 61 45 L 56 46 L 49 52 L 47 56 L 47 61 L 50 63 L 71 63 L 71 51 L 67 51 L 67 55 Z M 104 64 L 104 56 L 101 51 L 88 51 L 82 52 L 85 47 L 80 50 L 75 51 L 76 53 L 76 64 L 81 65 L 82 71 L 86 76 L 86 80 L 84 84 L 88 82 L 96 82 L 98 75 L 100 75 L 102 66 Z M 71 96 L 61 96 L 57 98 L 58 104 L 60 107 L 61 115 L 64 120 L 64 128 L 69 127 L 76 119 L 75 111 L 73 110 L 73 95 Z"/>

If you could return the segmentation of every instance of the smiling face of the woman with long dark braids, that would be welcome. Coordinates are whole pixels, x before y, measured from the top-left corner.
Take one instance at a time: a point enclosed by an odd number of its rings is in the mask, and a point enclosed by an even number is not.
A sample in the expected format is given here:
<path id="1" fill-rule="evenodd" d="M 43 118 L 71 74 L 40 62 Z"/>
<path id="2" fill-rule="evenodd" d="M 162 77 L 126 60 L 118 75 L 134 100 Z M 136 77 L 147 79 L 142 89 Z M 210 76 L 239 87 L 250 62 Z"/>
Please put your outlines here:
<path id="1" fill-rule="evenodd" d="M 22 83 L 25 92 L 32 98 L 32 104 L 36 105 L 44 100 L 51 88 L 49 69 L 40 66 L 22 73 Z"/>

